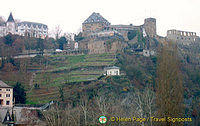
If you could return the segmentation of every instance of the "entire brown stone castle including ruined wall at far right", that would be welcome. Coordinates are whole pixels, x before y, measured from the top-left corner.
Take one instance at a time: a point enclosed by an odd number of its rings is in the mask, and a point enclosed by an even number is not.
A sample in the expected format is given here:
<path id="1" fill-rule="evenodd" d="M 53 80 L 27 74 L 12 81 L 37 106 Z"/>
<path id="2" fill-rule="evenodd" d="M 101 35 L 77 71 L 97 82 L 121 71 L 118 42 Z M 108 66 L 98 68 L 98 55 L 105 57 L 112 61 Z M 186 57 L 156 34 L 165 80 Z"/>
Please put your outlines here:
<path id="1" fill-rule="evenodd" d="M 182 44 L 190 44 L 199 41 L 195 32 L 185 32 L 179 30 L 168 30 L 167 36 L 157 35 L 156 19 L 146 18 L 144 24 L 140 26 L 130 25 L 111 25 L 99 13 L 93 12 L 82 23 L 82 40 L 79 42 L 80 49 L 88 50 L 89 53 L 116 52 L 126 47 L 129 41 L 128 34 L 132 31 L 141 33 L 147 38 L 145 48 L 149 48 L 153 43 L 174 41 Z M 134 42 L 137 41 L 132 40 Z"/>

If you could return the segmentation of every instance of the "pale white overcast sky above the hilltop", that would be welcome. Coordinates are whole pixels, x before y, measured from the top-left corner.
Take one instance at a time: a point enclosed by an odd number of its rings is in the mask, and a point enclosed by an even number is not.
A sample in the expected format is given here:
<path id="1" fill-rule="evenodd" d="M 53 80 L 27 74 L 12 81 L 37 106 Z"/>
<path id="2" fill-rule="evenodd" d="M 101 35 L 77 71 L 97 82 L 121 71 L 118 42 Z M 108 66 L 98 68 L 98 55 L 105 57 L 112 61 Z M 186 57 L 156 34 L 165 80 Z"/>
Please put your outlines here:
<path id="1" fill-rule="evenodd" d="M 147 17 L 157 19 L 157 34 L 169 29 L 200 35 L 200 0 L 0 0 L 0 16 L 47 24 L 50 31 L 60 25 L 77 33 L 92 12 L 111 24 L 141 25 Z"/>

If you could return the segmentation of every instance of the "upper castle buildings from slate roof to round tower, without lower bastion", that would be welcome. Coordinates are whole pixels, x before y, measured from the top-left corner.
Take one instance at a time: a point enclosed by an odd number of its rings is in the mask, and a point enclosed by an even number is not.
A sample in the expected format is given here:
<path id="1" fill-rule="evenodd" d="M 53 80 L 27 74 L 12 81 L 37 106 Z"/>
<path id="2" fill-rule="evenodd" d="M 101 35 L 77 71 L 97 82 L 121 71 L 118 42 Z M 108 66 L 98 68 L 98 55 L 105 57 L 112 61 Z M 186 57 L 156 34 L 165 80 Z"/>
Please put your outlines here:
<path id="1" fill-rule="evenodd" d="M 82 23 L 83 37 L 94 37 L 99 34 L 110 35 L 120 34 L 127 40 L 127 33 L 130 30 L 142 31 L 149 37 L 156 37 L 156 19 L 146 18 L 144 24 L 141 26 L 130 25 L 111 25 L 105 18 L 99 13 L 93 12 L 83 23 Z"/>

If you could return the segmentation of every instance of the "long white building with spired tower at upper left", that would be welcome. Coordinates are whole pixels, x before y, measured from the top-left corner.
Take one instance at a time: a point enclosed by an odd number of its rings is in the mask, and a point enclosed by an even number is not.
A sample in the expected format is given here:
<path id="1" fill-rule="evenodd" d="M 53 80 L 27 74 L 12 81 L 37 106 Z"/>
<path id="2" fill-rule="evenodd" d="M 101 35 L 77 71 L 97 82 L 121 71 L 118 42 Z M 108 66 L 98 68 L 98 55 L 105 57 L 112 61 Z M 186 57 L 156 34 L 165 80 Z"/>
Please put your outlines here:
<path id="1" fill-rule="evenodd" d="M 35 22 L 16 22 L 12 13 L 10 13 L 6 22 L 0 17 L 0 37 L 9 33 L 21 36 L 28 35 L 30 37 L 45 38 L 48 35 L 48 27 L 45 24 Z"/>

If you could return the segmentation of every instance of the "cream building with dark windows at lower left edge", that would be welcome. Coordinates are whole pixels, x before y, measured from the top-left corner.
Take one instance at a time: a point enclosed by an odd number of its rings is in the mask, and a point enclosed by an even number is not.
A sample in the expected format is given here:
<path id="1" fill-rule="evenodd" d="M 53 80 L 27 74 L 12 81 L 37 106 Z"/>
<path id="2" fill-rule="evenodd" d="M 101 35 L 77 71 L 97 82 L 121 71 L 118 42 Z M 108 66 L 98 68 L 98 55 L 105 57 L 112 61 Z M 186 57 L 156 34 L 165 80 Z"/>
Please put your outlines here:
<path id="1" fill-rule="evenodd" d="M 13 88 L 0 80 L 0 107 L 13 107 Z"/>

